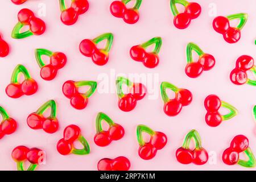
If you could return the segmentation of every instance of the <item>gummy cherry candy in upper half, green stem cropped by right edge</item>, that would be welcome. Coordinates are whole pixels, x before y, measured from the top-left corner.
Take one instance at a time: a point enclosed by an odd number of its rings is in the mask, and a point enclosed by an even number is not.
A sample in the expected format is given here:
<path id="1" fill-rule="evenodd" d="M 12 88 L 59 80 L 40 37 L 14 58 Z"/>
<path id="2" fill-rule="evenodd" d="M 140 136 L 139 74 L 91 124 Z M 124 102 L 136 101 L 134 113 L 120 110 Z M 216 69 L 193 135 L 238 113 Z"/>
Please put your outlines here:
<path id="1" fill-rule="evenodd" d="M 253 57 L 247 55 L 238 57 L 236 68 L 230 73 L 230 80 L 236 85 L 249 84 L 256 86 L 256 80 L 249 79 L 247 71 L 252 72 L 256 76 L 256 66 L 254 65 Z"/>

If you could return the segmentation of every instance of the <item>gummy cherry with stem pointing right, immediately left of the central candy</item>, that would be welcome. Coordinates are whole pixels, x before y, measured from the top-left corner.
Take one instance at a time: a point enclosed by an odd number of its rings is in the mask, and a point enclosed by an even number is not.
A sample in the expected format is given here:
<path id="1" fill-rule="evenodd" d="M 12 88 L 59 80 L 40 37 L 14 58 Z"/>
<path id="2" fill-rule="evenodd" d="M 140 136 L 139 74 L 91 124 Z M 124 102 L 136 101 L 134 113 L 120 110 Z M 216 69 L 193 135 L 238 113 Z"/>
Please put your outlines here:
<path id="1" fill-rule="evenodd" d="M 85 93 L 80 93 L 81 86 L 90 86 Z M 84 109 L 87 106 L 88 98 L 92 96 L 97 88 L 96 81 L 72 81 L 68 80 L 63 84 L 62 92 L 65 97 L 70 99 L 70 104 L 75 109 Z"/>

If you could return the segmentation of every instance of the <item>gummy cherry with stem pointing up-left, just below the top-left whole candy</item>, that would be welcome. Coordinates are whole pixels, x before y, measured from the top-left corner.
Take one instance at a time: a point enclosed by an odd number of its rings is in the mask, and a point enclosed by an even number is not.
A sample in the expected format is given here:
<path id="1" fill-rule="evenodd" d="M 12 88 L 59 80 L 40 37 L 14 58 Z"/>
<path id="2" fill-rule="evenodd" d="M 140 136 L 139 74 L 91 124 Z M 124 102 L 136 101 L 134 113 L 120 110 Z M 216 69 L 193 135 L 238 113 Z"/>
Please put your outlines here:
<path id="1" fill-rule="evenodd" d="M 49 64 L 44 64 L 42 56 L 46 55 L 50 58 Z M 44 80 L 53 80 L 56 77 L 57 71 L 64 67 L 67 62 L 67 57 L 62 52 L 51 52 L 47 49 L 35 50 L 36 61 L 41 68 L 40 76 Z"/>

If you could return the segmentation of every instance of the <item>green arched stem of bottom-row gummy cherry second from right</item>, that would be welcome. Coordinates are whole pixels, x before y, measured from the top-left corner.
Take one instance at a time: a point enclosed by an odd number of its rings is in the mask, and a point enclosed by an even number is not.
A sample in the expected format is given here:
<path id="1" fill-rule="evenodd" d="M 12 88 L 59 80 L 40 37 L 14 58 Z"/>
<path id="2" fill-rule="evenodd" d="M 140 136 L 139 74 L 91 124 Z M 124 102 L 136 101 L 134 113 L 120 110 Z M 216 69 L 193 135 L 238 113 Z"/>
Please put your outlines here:
<path id="1" fill-rule="evenodd" d="M 184 142 L 183 142 L 183 145 L 182 145 L 183 148 L 189 149 L 189 144 L 191 142 L 191 138 L 193 138 L 195 140 L 195 144 L 196 144 L 195 148 L 196 149 L 202 148 L 202 146 L 201 146 L 201 137 L 200 137 L 199 133 L 196 130 L 191 130 L 186 135 L 186 137 L 184 139 Z"/>

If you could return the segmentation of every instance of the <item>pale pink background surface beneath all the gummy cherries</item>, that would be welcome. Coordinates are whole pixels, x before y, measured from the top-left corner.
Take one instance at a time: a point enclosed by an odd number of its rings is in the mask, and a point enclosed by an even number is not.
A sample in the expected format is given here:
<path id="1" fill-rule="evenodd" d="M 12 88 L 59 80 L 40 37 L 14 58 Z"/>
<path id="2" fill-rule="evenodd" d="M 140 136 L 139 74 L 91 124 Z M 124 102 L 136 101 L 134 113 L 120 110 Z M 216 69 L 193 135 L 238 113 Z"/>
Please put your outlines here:
<path id="1" fill-rule="evenodd" d="M 0 61 L 0 104 L 6 108 L 11 117 L 19 124 L 18 130 L 12 135 L 0 140 L 0 169 L 15 170 L 15 162 L 11 159 L 11 151 L 19 145 L 39 147 L 46 151 L 46 164 L 38 170 L 96 170 L 97 162 L 102 158 L 126 156 L 130 159 L 131 170 L 244 170 L 246 168 L 227 166 L 221 160 L 222 151 L 227 148 L 232 138 L 238 134 L 246 135 L 250 147 L 256 154 L 254 127 L 255 122 L 251 110 L 256 104 L 255 87 L 249 85 L 236 86 L 229 80 L 236 59 L 244 54 L 256 57 L 256 2 L 247 1 L 217 1 L 197 0 L 202 7 L 199 18 L 192 20 L 186 30 L 177 30 L 172 23 L 170 0 L 147 0 L 142 2 L 139 9 L 140 19 L 134 25 L 124 23 L 121 19 L 110 14 L 109 6 L 112 0 L 89 1 L 87 13 L 81 15 L 73 26 L 65 26 L 60 21 L 58 1 L 27 1 L 16 6 L 10 1 L 1 2 L 0 31 L 3 38 L 10 44 L 10 55 Z M 46 16 L 42 19 L 47 24 L 47 31 L 42 36 L 15 40 L 10 34 L 17 22 L 18 11 L 27 7 L 34 12 L 39 10 L 39 3 L 46 5 Z M 242 38 L 236 44 L 228 44 L 220 34 L 214 32 L 209 16 L 209 4 L 216 5 L 217 15 L 248 13 L 249 18 L 242 30 Z M 88 57 L 79 52 L 79 43 L 85 38 L 94 38 L 105 32 L 114 34 L 110 59 L 104 67 L 93 64 Z M 160 64 L 155 69 L 147 69 L 142 64 L 131 60 L 131 46 L 145 42 L 154 36 L 161 36 L 163 46 L 159 53 Z M 185 47 L 188 42 L 195 42 L 205 52 L 214 55 L 215 67 L 204 72 L 199 78 L 192 79 L 185 75 Z M 39 67 L 36 63 L 35 48 L 47 48 L 61 51 L 68 57 L 67 65 L 59 71 L 53 81 L 40 78 Z M 10 82 L 11 73 L 17 64 L 24 64 L 31 76 L 39 84 L 39 90 L 32 96 L 12 99 L 6 96 L 5 88 Z M 61 86 L 67 80 L 97 80 L 100 73 L 110 76 L 110 69 L 115 73 L 159 73 L 159 82 L 155 92 L 158 98 L 139 101 L 135 110 L 124 113 L 118 109 L 115 93 L 98 93 L 90 97 L 89 104 L 84 110 L 75 110 L 69 105 L 69 100 L 61 92 Z M 100 80 L 97 80 L 100 81 Z M 183 108 L 176 117 L 167 117 L 163 113 L 163 102 L 160 98 L 159 85 L 168 81 L 180 88 L 187 88 L 193 93 L 191 105 Z M 109 85 L 115 89 L 114 82 Z M 206 110 L 204 99 L 208 94 L 217 94 L 222 100 L 237 107 L 239 114 L 223 122 L 216 128 L 209 127 L 204 121 Z M 57 118 L 60 122 L 59 131 L 47 134 L 42 130 L 31 130 L 26 123 L 28 114 L 32 113 L 47 100 L 57 101 Z M 112 142 L 107 147 L 98 147 L 93 142 L 96 133 L 95 119 L 99 111 L 108 114 L 115 122 L 125 128 L 125 137 Z M 81 127 L 82 135 L 88 140 L 91 148 L 89 155 L 60 155 L 56 150 L 57 141 L 63 137 L 65 126 L 76 124 Z M 143 160 L 138 156 L 136 127 L 144 124 L 155 131 L 162 131 L 168 137 L 166 147 L 158 151 L 152 160 Z M 195 166 L 183 165 L 176 161 L 175 151 L 183 142 L 189 130 L 199 131 L 203 147 L 216 152 L 216 164 Z M 210 158 L 212 159 L 212 158 Z M 214 158 L 213 158 L 214 159 Z M 253 170 L 253 169 L 252 169 Z"/>

